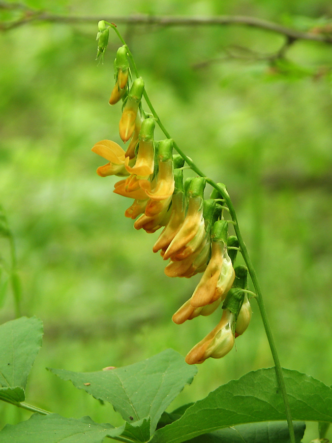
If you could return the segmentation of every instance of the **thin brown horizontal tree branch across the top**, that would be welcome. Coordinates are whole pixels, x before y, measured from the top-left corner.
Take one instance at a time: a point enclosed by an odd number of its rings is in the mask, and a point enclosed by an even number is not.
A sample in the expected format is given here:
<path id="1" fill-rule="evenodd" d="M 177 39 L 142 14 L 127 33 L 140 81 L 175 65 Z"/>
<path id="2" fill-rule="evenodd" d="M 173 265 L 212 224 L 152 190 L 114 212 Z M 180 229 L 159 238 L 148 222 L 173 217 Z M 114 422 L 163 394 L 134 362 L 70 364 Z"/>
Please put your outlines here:
<path id="1" fill-rule="evenodd" d="M 146 26 L 160 26 L 160 27 L 174 27 L 174 26 L 225 26 L 225 25 L 240 25 L 260 28 L 266 31 L 275 32 L 285 35 L 290 40 L 312 40 L 324 43 L 332 43 L 332 36 L 317 32 L 302 32 L 292 28 L 288 28 L 277 23 L 272 23 L 267 20 L 261 20 L 255 17 L 245 17 L 241 15 L 219 15 L 216 17 L 182 17 L 182 16 L 152 16 L 152 15 L 130 15 L 125 17 L 75 17 L 64 15 L 53 15 L 43 11 L 36 11 L 28 9 L 25 5 L 20 3 L 7 3 L 0 1 L 0 9 L 13 9 L 15 5 L 19 9 L 29 11 L 27 17 L 2 24 L 2 30 L 9 30 L 16 28 L 28 22 L 59 22 L 59 23 L 97 23 L 99 20 L 106 20 L 115 24 L 126 24 L 131 26 L 146 25 Z"/>

